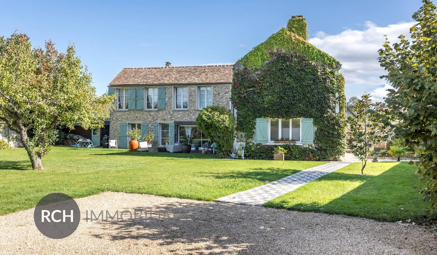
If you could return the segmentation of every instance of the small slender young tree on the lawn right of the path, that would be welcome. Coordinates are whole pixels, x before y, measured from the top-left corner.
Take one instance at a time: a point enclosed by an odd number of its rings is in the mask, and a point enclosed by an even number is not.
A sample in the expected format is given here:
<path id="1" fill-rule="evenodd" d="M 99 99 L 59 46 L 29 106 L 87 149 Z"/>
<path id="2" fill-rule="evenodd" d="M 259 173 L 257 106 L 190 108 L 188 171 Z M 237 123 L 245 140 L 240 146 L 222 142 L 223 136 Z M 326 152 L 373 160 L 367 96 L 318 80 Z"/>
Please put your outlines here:
<path id="1" fill-rule="evenodd" d="M 347 119 L 354 137 L 349 140 L 349 148 L 362 162 L 361 174 L 364 174 L 371 145 L 381 143 L 388 137 L 385 126 L 382 124 L 382 118 L 385 115 L 379 107 L 381 103 L 373 103 L 370 98 L 369 94 L 362 95 L 353 106 L 356 119 L 352 116 Z"/>

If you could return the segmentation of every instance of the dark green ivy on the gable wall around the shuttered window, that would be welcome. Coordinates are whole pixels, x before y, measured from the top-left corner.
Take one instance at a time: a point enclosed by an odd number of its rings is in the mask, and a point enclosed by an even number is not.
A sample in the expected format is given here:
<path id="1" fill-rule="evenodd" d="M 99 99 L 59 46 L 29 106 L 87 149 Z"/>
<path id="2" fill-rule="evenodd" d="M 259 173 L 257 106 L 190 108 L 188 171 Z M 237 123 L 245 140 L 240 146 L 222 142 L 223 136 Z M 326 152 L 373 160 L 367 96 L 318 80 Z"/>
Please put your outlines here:
<path id="1" fill-rule="evenodd" d="M 343 75 L 296 51 L 266 52 L 269 61 L 260 67 L 235 65 L 232 102 L 238 111 L 236 129 L 250 140 L 256 118 L 313 118 L 317 128 L 314 145 L 319 158 L 329 160 L 343 155 L 346 143 Z M 340 113 L 335 112 L 336 102 Z"/>

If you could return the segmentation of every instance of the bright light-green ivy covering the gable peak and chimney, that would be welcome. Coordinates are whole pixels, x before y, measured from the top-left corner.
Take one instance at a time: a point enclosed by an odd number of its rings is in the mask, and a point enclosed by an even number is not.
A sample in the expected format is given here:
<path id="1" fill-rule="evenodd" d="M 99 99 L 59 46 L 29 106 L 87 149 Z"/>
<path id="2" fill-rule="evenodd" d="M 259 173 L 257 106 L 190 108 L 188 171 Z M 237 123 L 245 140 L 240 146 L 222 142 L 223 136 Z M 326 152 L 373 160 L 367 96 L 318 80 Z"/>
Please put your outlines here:
<path id="1" fill-rule="evenodd" d="M 240 58 L 237 63 L 244 65 L 246 68 L 260 67 L 265 61 L 269 60 L 268 51 L 278 49 L 305 54 L 309 60 L 331 68 L 340 68 L 340 63 L 335 58 L 310 44 L 307 37 L 305 18 L 293 15 L 288 21 L 287 28 L 283 27 L 277 33 L 272 34 L 266 41 L 254 47 L 243 58 Z"/>

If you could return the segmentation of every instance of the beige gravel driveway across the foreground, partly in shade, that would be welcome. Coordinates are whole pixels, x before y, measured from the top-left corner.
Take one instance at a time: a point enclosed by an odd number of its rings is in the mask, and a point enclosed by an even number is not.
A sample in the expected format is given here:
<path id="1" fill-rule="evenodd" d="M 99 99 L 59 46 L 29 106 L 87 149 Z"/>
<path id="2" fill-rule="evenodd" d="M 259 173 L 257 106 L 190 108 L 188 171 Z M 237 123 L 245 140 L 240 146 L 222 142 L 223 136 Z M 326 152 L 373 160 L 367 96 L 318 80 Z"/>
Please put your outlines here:
<path id="1" fill-rule="evenodd" d="M 65 239 L 49 239 L 33 209 L 0 216 L 2 254 L 436 254 L 437 236 L 420 226 L 143 194 L 80 198 L 82 218 Z M 88 221 L 86 211 L 147 211 L 144 218 Z M 157 218 L 165 210 L 166 217 Z M 89 212 L 90 214 L 90 212 Z M 125 214 L 124 214 L 125 215 Z M 174 216 L 174 219 L 171 219 Z M 89 217 L 89 216 L 88 216 Z"/>

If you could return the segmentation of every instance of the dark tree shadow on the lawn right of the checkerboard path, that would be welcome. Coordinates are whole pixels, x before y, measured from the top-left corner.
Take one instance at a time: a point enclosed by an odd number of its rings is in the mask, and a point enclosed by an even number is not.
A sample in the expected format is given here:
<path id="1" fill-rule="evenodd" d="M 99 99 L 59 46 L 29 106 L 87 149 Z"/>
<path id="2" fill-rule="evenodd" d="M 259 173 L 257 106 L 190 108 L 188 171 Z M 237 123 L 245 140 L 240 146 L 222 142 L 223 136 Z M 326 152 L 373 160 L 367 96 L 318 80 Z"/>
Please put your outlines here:
<path id="1" fill-rule="evenodd" d="M 378 221 L 399 221 L 408 218 L 416 222 L 424 221 L 423 215 L 429 207 L 429 202 L 420 201 L 420 194 L 413 188 L 418 184 L 418 176 L 414 171 L 406 163 L 400 163 L 375 176 L 333 172 L 313 182 L 340 180 L 359 181 L 362 184 L 325 204 L 288 204 L 288 198 L 277 202 L 269 201 L 264 206 L 345 214 Z M 436 218 L 437 214 L 427 217 Z"/>

